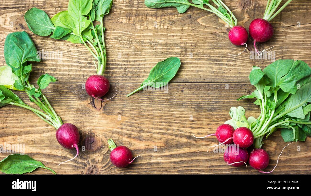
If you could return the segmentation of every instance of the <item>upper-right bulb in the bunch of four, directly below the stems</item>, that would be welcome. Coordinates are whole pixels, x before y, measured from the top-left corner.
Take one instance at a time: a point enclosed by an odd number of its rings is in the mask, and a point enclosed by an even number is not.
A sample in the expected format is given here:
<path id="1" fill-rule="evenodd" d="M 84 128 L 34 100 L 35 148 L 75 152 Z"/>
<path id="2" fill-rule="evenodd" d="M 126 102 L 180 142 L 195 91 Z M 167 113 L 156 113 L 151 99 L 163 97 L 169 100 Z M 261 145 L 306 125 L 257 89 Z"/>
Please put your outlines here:
<path id="1" fill-rule="evenodd" d="M 247 127 L 239 127 L 233 132 L 233 143 L 240 148 L 247 148 L 254 142 L 253 132 Z"/>

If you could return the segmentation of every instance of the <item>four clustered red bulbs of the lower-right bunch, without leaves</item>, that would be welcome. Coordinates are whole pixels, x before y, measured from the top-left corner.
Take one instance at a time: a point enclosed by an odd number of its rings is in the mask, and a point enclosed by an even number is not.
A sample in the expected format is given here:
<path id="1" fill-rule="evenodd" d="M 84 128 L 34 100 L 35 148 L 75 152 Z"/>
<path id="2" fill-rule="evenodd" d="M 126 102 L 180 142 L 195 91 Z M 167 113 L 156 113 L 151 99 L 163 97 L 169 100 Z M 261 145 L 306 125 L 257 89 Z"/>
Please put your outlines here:
<path id="1" fill-rule="evenodd" d="M 253 144 L 254 136 L 253 132 L 247 127 L 239 127 L 234 130 L 231 125 L 223 124 L 216 129 L 214 134 L 204 137 L 208 136 L 216 136 L 217 140 L 220 142 L 219 145 L 227 145 L 224 153 L 224 160 L 228 165 L 240 167 L 245 164 L 247 166 L 246 162 L 248 162 L 250 166 L 262 173 L 270 173 L 274 170 L 273 169 L 270 172 L 262 171 L 262 169 L 265 169 L 269 165 L 269 154 L 264 149 L 253 149 L 248 154 L 246 148 Z M 234 144 L 234 147 L 232 147 L 230 144 Z M 218 145 L 211 147 L 216 146 Z M 238 149 L 237 152 L 235 152 L 234 149 Z"/>

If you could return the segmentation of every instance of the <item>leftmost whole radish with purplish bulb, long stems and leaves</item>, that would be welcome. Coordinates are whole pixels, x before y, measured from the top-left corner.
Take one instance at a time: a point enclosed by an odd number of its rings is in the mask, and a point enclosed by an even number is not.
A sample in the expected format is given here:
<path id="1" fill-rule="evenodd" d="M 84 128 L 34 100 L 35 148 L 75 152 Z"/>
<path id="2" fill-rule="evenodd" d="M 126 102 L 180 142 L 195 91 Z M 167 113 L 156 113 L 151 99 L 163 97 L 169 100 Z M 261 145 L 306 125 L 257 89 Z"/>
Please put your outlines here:
<path id="1" fill-rule="evenodd" d="M 77 127 L 72 124 L 63 124 L 62 119 L 56 114 L 42 90 L 48 87 L 49 83 L 57 81 L 49 74 L 39 77 L 38 88 L 28 81 L 32 64 L 28 61 L 39 62 L 37 49 L 30 36 L 25 32 L 14 32 L 7 35 L 4 42 L 4 58 L 7 65 L 0 67 L 0 107 L 15 105 L 34 112 L 44 122 L 57 129 L 56 138 L 65 148 L 79 149 L 77 144 L 80 140 Z M 11 90 L 25 91 L 30 101 L 40 109 L 35 109 L 25 104 Z M 76 156 L 77 157 L 77 156 Z"/>

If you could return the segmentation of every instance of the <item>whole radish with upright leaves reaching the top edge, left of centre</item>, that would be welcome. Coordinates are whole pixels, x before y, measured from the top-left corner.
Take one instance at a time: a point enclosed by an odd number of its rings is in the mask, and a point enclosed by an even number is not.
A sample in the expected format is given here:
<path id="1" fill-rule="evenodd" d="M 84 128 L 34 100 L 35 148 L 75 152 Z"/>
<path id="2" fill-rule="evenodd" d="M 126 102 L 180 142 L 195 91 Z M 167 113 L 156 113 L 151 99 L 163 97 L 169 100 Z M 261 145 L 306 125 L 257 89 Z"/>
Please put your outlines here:
<path id="1" fill-rule="evenodd" d="M 85 88 L 90 96 L 98 100 L 102 100 L 100 97 L 104 96 L 110 87 L 108 79 L 103 76 L 107 64 L 103 19 L 109 14 L 112 3 L 113 0 L 85 0 L 83 3 L 69 0 L 68 11 L 61 11 L 51 19 L 44 11 L 35 7 L 25 14 L 26 23 L 33 33 L 40 36 L 53 33 L 50 38 L 82 43 L 90 51 L 97 61 L 97 75 L 86 80 Z M 100 24 L 94 26 L 95 20 Z"/>

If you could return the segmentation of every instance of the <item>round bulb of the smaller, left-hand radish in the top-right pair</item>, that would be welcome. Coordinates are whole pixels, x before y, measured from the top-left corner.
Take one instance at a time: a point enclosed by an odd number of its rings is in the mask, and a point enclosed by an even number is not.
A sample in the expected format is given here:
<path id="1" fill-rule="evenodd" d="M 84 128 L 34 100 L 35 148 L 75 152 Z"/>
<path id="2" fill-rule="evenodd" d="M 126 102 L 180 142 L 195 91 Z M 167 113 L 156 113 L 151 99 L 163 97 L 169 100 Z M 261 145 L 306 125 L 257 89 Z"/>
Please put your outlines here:
<path id="1" fill-rule="evenodd" d="M 248 40 L 248 33 L 242 26 L 234 26 L 228 34 L 229 40 L 236 46 L 244 45 Z"/>

